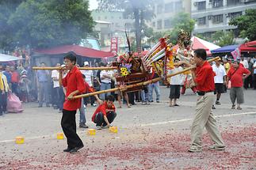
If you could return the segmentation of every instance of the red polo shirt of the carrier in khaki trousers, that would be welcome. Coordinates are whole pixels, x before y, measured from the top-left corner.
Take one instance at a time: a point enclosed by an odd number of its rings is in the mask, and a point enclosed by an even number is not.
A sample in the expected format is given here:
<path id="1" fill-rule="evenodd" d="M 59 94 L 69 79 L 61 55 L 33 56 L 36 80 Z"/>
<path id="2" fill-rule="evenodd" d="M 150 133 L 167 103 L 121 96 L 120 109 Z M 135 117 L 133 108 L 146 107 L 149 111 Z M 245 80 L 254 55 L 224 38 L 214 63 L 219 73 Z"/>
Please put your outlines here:
<path id="1" fill-rule="evenodd" d="M 197 90 L 201 92 L 214 91 L 214 76 L 216 76 L 216 74 L 212 70 L 212 66 L 209 62 L 204 62 L 202 66 L 197 66 L 195 78 Z"/>

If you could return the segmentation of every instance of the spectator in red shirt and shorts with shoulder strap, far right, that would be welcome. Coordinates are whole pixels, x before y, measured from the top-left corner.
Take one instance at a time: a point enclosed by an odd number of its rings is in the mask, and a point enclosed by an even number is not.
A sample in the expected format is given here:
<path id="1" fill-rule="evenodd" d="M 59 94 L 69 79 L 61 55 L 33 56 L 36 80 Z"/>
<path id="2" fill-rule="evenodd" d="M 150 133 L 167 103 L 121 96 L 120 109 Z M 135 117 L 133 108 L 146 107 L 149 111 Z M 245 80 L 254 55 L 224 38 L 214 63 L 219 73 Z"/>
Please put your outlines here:
<path id="1" fill-rule="evenodd" d="M 250 76 L 250 71 L 241 66 L 239 61 L 232 63 L 231 69 L 227 73 L 227 82 L 231 81 L 230 98 L 232 102 L 231 109 L 235 109 L 235 99 L 237 100 L 237 109 L 242 110 L 240 104 L 243 104 L 243 80 Z"/>

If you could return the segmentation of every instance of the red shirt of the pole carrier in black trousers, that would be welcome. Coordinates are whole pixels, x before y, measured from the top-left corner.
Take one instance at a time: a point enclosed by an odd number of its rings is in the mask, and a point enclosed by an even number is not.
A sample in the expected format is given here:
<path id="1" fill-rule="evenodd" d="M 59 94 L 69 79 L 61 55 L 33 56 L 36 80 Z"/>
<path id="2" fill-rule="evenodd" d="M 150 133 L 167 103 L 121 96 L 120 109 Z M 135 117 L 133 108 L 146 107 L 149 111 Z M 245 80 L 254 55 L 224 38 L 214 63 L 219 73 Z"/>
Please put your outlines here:
<path id="1" fill-rule="evenodd" d="M 67 111 L 76 111 L 81 107 L 81 99 L 67 100 L 67 96 L 75 90 L 78 90 L 79 94 L 86 91 L 85 81 L 83 80 L 82 74 L 80 70 L 78 70 L 78 67 L 75 66 L 68 72 L 67 76 L 63 78 L 63 87 L 67 89 L 63 109 Z"/>

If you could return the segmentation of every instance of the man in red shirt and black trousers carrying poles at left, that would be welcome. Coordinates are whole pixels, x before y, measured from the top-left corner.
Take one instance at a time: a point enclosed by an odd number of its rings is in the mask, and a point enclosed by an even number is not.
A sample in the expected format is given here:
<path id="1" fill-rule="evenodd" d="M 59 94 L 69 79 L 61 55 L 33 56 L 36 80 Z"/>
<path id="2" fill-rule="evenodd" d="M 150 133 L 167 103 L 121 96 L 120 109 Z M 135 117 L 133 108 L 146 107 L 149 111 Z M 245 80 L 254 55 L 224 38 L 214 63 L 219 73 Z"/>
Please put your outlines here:
<path id="1" fill-rule="evenodd" d="M 67 137 L 67 149 L 64 152 L 75 153 L 83 147 L 82 140 L 76 133 L 75 114 L 78 108 L 81 107 L 81 99 L 74 99 L 77 94 L 82 94 L 86 91 L 82 74 L 78 67 L 75 66 L 76 57 L 69 54 L 64 57 L 64 63 L 67 70 L 70 70 L 66 77 L 63 78 L 63 70 L 59 71 L 59 85 L 66 88 L 66 99 L 63 104 L 63 117 L 61 119 L 61 127 Z"/>

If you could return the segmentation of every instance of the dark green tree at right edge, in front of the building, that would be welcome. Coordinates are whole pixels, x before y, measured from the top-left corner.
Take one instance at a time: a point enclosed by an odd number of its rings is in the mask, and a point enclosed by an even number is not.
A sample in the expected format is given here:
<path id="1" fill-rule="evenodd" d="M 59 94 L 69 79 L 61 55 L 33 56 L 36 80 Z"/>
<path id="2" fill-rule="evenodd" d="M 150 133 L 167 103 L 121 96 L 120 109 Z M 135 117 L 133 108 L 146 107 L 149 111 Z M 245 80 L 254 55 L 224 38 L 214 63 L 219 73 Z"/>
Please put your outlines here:
<path id="1" fill-rule="evenodd" d="M 233 18 L 229 25 L 237 26 L 242 38 L 256 40 L 256 9 L 246 9 L 244 15 Z"/>

